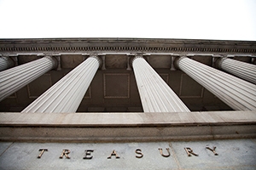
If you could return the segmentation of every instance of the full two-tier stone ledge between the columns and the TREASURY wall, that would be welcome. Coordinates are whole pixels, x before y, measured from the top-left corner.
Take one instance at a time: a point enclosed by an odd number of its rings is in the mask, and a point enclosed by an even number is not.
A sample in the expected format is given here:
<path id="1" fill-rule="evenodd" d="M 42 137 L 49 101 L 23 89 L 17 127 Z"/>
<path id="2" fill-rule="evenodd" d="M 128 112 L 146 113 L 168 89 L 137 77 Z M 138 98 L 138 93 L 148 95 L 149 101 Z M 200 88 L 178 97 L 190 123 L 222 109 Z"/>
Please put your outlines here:
<path id="1" fill-rule="evenodd" d="M 163 141 L 256 137 L 256 111 L 0 113 L 3 141 Z"/>

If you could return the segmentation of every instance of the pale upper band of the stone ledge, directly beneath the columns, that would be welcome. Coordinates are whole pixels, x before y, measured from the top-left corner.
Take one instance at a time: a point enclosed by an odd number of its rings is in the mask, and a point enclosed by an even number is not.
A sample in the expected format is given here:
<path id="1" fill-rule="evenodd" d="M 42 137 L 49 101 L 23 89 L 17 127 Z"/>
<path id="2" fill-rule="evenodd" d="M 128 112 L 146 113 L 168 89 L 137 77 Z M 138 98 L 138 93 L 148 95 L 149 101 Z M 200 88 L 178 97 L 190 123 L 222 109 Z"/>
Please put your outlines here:
<path id="1" fill-rule="evenodd" d="M 256 111 L 0 113 L 1 126 L 131 127 L 255 124 Z"/>

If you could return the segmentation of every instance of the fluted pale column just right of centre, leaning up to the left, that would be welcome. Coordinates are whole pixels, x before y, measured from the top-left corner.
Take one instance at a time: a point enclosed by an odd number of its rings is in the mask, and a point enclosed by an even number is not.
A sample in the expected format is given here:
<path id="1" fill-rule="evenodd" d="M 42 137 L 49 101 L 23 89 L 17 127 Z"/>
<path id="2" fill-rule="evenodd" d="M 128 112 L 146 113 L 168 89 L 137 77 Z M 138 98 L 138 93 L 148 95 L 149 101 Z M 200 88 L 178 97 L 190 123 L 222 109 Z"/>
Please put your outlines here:
<path id="1" fill-rule="evenodd" d="M 166 82 L 141 56 L 132 60 L 144 112 L 189 112 Z"/>

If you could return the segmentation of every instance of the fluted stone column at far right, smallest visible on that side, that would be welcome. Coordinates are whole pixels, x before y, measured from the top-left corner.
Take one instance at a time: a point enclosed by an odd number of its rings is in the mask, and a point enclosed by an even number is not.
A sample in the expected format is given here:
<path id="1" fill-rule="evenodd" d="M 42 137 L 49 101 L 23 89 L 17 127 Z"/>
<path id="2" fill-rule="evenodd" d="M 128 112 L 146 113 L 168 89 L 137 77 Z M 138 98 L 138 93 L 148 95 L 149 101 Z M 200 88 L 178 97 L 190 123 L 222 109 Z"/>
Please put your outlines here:
<path id="1" fill-rule="evenodd" d="M 256 65 L 229 58 L 218 59 L 216 65 L 219 69 L 256 84 Z"/>

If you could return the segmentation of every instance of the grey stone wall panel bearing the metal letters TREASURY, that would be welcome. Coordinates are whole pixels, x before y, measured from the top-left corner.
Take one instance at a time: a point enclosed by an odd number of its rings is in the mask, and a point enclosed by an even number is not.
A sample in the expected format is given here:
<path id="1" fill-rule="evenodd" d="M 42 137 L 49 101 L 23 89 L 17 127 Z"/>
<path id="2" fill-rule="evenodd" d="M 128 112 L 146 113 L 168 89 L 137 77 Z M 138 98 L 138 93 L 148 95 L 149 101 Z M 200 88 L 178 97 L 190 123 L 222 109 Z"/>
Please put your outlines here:
<path id="1" fill-rule="evenodd" d="M 256 169 L 256 139 L 0 143 L 0 169 Z"/>

